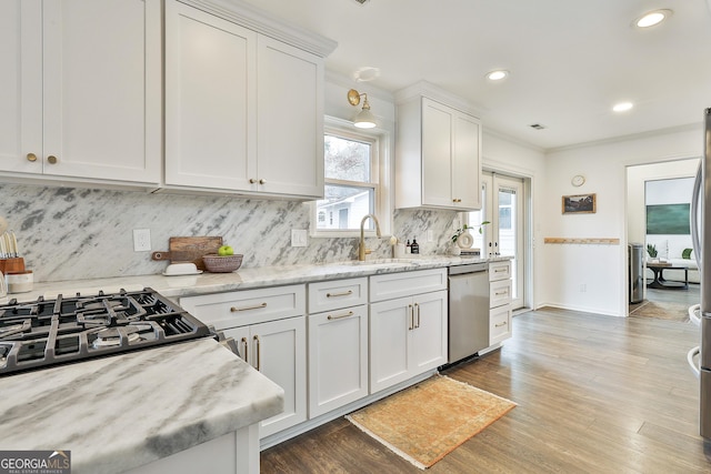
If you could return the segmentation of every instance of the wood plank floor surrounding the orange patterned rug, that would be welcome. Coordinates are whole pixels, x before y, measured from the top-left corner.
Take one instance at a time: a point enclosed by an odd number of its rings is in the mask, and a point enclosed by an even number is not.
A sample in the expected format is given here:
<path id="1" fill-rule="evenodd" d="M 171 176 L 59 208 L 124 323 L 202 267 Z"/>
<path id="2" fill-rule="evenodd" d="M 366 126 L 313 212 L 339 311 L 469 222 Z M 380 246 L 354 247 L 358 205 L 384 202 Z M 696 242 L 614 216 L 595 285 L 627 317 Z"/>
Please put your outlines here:
<path id="1" fill-rule="evenodd" d="M 711 472 L 685 360 L 697 326 L 543 309 L 515 316 L 513 333 L 444 373 L 518 406 L 429 472 Z M 421 471 L 339 418 L 262 452 L 261 472 Z"/>

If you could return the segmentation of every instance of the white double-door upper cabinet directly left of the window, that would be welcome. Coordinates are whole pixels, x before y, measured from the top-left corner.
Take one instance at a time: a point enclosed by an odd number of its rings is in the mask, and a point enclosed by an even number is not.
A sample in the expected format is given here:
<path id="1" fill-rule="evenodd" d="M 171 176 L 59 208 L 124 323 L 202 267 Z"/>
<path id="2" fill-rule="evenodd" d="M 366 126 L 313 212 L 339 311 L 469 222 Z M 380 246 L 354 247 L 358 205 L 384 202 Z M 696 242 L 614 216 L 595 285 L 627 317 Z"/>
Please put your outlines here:
<path id="1" fill-rule="evenodd" d="M 323 58 L 203 9 L 166 2 L 166 184 L 322 196 Z"/>

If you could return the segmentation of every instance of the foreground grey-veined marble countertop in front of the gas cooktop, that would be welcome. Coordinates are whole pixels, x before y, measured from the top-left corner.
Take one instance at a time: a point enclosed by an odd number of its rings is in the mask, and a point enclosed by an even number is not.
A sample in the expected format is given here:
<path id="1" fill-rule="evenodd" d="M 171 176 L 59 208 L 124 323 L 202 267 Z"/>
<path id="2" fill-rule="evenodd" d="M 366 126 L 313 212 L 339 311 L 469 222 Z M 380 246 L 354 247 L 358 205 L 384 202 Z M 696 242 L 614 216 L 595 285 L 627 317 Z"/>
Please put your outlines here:
<path id="1" fill-rule="evenodd" d="M 118 473 L 268 418 L 283 390 L 211 339 L 0 379 L 2 450 Z"/>

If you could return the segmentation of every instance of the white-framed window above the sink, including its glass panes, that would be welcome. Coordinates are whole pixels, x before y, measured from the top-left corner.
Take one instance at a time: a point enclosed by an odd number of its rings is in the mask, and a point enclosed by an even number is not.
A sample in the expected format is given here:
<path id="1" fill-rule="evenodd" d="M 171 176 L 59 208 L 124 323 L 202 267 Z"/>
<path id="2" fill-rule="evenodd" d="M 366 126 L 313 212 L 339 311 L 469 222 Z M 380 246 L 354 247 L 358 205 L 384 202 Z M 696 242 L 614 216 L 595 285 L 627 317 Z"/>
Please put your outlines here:
<path id="1" fill-rule="evenodd" d="M 350 122 L 326 121 L 323 138 L 324 195 L 316 202 L 312 235 L 352 236 L 360 232 L 365 214 L 375 214 L 383 233 L 390 229 L 390 212 L 384 205 L 385 188 L 381 184 L 383 132 L 354 130 Z M 328 219 L 324 219 L 328 215 Z M 373 231 L 372 220 L 365 229 Z M 385 230 L 387 229 L 387 230 Z"/>

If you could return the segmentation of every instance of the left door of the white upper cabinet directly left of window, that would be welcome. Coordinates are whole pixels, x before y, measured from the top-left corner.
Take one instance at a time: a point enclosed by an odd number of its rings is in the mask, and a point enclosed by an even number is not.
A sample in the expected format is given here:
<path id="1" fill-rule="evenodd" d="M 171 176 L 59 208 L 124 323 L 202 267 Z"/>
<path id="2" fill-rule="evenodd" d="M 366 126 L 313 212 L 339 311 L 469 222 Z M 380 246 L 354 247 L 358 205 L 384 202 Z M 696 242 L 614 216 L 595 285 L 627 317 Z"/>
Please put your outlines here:
<path id="1" fill-rule="evenodd" d="M 251 190 L 257 33 L 166 2 L 166 183 Z"/>

